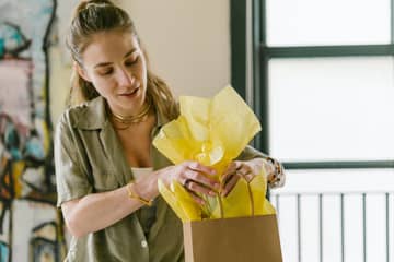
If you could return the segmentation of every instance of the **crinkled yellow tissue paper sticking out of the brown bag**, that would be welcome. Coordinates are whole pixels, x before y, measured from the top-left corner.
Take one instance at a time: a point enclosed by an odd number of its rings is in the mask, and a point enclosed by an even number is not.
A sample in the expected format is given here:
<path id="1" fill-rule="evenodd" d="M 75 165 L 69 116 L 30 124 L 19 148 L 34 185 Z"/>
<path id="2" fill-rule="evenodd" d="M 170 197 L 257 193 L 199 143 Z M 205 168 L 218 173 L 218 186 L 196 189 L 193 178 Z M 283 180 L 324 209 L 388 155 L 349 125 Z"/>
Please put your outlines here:
<path id="1" fill-rule="evenodd" d="M 197 160 L 217 170 L 216 179 L 260 131 L 260 124 L 242 97 L 227 86 L 213 98 L 179 97 L 181 116 L 166 123 L 153 140 L 153 145 L 174 164 Z M 199 205 L 176 181 L 170 188 L 159 181 L 159 191 L 183 222 L 202 218 L 224 218 L 275 214 L 265 199 L 264 170 L 252 181 L 241 178 L 225 198 L 206 196 Z"/>

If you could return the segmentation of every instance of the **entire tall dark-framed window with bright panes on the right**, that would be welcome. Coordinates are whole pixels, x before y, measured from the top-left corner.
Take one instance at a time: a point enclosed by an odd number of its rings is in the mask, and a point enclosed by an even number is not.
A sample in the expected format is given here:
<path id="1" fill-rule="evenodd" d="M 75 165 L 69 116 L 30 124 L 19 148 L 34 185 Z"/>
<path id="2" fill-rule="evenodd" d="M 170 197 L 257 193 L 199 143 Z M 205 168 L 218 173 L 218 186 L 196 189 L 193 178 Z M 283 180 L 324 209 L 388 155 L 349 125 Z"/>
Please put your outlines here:
<path id="1" fill-rule="evenodd" d="M 394 258 L 393 13 L 390 0 L 231 1 L 232 82 L 260 118 L 255 146 L 287 169 L 271 192 L 283 261 Z"/>

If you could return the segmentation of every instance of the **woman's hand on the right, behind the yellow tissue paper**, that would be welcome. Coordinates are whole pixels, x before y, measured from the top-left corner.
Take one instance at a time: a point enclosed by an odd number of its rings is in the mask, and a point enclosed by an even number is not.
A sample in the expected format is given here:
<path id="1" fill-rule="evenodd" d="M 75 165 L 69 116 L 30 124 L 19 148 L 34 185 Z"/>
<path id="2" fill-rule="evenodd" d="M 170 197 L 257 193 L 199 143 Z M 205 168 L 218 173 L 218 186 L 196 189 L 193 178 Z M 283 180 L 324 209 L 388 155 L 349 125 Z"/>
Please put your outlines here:
<path id="1" fill-rule="evenodd" d="M 254 158 L 246 162 L 232 162 L 223 172 L 221 195 L 227 196 L 233 190 L 241 177 L 250 182 L 255 176 L 260 175 L 262 169 L 266 168 L 264 163 L 264 158 Z"/>

